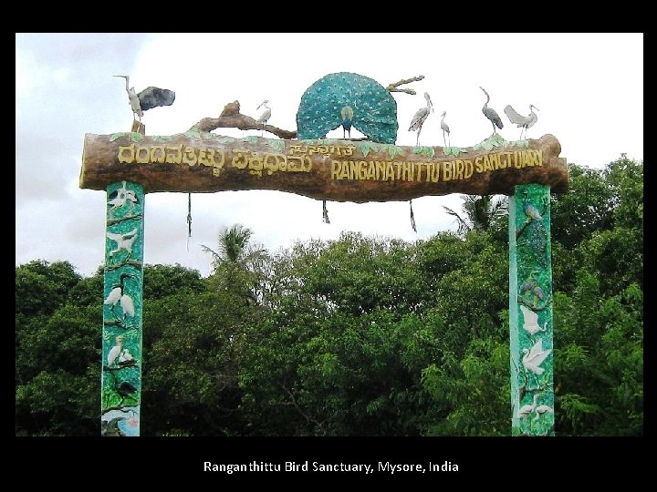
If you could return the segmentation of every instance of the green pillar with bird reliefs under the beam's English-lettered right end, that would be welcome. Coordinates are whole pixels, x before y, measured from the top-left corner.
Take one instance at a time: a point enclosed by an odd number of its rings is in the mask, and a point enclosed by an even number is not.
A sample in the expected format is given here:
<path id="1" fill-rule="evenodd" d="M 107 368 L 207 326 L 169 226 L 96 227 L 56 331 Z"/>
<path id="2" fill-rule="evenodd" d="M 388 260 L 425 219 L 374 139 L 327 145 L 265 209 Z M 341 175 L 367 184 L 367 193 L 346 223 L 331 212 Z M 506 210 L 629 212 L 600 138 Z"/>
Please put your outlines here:
<path id="1" fill-rule="evenodd" d="M 554 436 L 550 188 L 509 199 L 509 325 L 513 436 Z"/>

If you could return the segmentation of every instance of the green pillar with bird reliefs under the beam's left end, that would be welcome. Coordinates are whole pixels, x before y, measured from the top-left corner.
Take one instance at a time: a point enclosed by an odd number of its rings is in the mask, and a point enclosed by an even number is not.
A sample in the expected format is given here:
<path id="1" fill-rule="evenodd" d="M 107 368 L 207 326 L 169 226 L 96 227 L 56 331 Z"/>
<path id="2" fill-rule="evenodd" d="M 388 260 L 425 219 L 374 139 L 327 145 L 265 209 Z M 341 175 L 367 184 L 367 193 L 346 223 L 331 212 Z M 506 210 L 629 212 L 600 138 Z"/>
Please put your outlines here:
<path id="1" fill-rule="evenodd" d="M 100 424 L 102 436 L 139 436 L 143 305 L 141 185 L 107 188 Z"/>

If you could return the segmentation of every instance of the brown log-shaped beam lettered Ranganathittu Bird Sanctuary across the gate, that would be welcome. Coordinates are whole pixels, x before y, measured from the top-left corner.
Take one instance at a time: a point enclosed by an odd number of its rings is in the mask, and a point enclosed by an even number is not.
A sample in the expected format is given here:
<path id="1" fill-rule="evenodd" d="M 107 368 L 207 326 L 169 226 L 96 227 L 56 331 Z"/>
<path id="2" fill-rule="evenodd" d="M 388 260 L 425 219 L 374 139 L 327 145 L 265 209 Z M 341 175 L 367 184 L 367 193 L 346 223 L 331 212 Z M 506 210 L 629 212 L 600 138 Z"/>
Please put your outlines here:
<path id="1" fill-rule="evenodd" d="M 231 118 L 231 117 L 226 117 Z M 494 135 L 465 149 L 401 147 L 340 139 L 232 138 L 189 130 L 172 136 L 87 134 L 80 188 L 120 180 L 145 192 L 279 190 L 317 200 L 394 201 L 426 195 L 506 194 L 538 183 L 568 190 L 558 139 L 506 142 Z"/>

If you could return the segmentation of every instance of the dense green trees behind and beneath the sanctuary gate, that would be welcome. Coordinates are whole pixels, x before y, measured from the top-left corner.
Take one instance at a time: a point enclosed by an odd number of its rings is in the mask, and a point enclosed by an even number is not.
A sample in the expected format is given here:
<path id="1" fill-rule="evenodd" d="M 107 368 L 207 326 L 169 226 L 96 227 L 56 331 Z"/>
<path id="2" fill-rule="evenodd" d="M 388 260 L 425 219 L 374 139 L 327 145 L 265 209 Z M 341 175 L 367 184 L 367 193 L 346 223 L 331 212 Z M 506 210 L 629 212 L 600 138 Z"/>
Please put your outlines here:
<path id="1" fill-rule="evenodd" d="M 556 434 L 641 436 L 643 165 L 570 177 L 551 199 Z M 235 224 L 206 278 L 145 265 L 141 434 L 509 436 L 506 215 L 484 199 L 426 241 L 274 253 Z M 16 435 L 99 436 L 102 273 L 16 267 Z"/>

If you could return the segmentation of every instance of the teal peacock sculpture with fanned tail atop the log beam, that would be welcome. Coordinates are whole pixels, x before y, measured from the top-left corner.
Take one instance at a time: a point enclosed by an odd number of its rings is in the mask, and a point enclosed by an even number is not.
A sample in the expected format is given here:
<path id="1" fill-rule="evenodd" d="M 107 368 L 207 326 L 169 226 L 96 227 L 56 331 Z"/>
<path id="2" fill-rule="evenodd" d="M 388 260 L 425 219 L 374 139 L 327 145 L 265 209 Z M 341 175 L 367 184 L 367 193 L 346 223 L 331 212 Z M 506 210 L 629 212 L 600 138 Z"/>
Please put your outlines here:
<path id="1" fill-rule="evenodd" d="M 397 140 L 397 101 L 376 80 L 350 72 L 321 77 L 306 89 L 297 110 L 297 138 L 326 138 L 342 126 L 356 128 L 372 142 Z"/>

